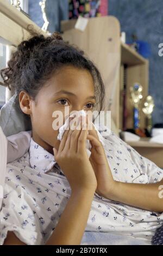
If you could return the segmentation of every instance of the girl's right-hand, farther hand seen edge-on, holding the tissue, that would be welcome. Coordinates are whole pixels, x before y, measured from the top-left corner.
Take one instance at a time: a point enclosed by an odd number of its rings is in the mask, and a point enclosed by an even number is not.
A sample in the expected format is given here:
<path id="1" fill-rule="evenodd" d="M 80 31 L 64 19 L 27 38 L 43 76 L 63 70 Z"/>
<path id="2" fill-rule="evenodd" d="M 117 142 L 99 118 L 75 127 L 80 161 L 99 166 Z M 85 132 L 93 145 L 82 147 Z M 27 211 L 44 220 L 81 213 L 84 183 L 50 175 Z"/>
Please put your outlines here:
<path id="1" fill-rule="evenodd" d="M 111 194 L 114 192 L 116 181 L 114 181 L 112 177 L 108 159 L 106 158 L 103 145 L 101 141 L 99 141 L 97 131 L 95 127 L 91 127 L 92 129 L 89 129 L 87 139 L 90 140 L 92 146 L 89 160 L 97 178 L 96 193 L 102 195 L 103 197 L 106 197 L 106 195 L 109 197 L 110 195 L 111 199 Z"/>

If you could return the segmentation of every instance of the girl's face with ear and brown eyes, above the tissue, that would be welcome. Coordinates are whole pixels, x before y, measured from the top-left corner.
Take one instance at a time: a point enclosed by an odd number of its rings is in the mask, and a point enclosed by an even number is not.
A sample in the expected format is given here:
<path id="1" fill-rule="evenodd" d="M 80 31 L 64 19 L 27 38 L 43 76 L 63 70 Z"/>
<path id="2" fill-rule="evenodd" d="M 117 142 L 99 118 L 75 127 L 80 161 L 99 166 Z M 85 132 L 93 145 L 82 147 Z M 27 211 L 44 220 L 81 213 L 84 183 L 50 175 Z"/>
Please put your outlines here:
<path id="1" fill-rule="evenodd" d="M 52 117 L 53 112 L 61 111 L 65 121 L 65 106 L 69 106 L 71 113 L 74 110 L 93 110 L 96 103 L 90 72 L 72 66 L 63 67 L 52 75 L 35 100 L 27 100 L 27 97 L 27 93 L 20 93 L 20 106 L 22 111 L 31 117 L 33 139 L 52 154 L 53 147 L 58 149 L 60 145 L 57 140 L 58 130 L 52 127 L 55 120 Z"/>

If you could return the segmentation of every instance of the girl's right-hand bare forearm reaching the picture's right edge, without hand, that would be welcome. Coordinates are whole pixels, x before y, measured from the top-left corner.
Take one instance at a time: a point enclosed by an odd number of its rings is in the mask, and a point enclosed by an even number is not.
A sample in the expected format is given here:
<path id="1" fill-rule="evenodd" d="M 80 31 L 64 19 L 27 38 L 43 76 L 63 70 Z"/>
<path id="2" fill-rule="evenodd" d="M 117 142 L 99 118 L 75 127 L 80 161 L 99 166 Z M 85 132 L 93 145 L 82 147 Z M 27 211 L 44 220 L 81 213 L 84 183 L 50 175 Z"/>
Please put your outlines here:
<path id="1" fill-rule="evenodd" d="M 162 192 L 161 192 L 162 191 Z M 104 197 L 154 212 L 163 212 L 163 180 L 139 184 L 115 182 L 114 189 Z"/>

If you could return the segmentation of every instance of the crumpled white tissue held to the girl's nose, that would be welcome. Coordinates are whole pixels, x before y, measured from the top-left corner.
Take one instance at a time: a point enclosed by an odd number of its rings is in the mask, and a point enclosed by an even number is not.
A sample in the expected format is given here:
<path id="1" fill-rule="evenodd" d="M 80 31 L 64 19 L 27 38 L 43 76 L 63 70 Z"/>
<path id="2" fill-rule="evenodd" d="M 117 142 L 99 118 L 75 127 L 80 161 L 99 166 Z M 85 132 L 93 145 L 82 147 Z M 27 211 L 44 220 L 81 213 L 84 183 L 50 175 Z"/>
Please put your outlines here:
<path id="1" fill-rule="evenodd" d="M 78 112 L 78 116 L 86 116 L 86 113 L 84 110 L 80 110 L 80 111 L 76 111 L 76 112 L 73 112 L 72 115 L 70 115 L 70 117 L 73 117 L 74 115 L 76 115 L 76 113 Z M 61 140 L 62 139 L 62 136 L 66 130 L 66 128 L 68 127 L 68 124 L 69 124 L 69 118 L 66 119 L 65 123 L 63 126 L 61 126 L 59 128 L 59 134 L 57 136 L 57 139 L 58 140 Z M 92 123 L 92 126 L 95 127 L 95 125 Z M 96 131 L 97 131 L 97 135 L 98 135 L 98 138 L 99 138 L 99 141 L 102 142 L 102 145 L 104 146 L 104 139 L 103 139 L 103 136 L 98 132 L 97 128 L 95 127 Z M 87 154 L 88 156 L 90 157 L 90 154 L 91 154 L 91 143 L 89 140 L 86 140 L 86 151 L 87 151 Z"/>

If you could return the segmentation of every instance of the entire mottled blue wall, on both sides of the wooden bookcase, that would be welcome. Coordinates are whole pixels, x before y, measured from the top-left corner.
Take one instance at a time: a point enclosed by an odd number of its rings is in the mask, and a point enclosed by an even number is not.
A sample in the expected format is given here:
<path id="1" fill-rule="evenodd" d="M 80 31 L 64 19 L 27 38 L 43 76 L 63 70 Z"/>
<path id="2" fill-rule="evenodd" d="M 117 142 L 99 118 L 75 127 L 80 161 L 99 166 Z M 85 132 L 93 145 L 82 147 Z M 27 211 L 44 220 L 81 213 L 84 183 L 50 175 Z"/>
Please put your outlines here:
<path id="1" fill-rule="evenodd" d="M 40 27 L 43 25 L 40 0 L 29 0 L 29 15 Z M 68 19 L 68 0 L 47 0 L 48 31 L 59 31 L 59 20 Z M 149 93 L 155 100 L 153 123 L 163 123 L 163 57 L 158 45 L 163 43 L 163 0 L 109 0 L 109 15 L 121 22 L 127 40 L 135 33 L 151 44 L 149 58 Z"/>

